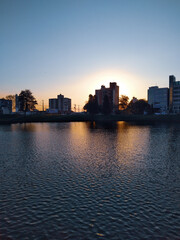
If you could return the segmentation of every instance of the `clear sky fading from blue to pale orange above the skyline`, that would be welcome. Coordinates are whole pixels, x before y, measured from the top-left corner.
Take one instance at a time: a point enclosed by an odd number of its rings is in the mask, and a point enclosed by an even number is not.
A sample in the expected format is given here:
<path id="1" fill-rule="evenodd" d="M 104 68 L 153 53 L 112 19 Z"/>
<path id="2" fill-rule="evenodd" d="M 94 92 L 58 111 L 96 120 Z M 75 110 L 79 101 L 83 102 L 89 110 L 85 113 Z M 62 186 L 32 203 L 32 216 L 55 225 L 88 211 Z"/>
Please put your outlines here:
<path id="1" fill-rule="evenodd" d="M 180 80 L 180 0 L 0 0 L 0 98 L 30 89 L 82 108 L 101 85 L 147 98 Z"/>

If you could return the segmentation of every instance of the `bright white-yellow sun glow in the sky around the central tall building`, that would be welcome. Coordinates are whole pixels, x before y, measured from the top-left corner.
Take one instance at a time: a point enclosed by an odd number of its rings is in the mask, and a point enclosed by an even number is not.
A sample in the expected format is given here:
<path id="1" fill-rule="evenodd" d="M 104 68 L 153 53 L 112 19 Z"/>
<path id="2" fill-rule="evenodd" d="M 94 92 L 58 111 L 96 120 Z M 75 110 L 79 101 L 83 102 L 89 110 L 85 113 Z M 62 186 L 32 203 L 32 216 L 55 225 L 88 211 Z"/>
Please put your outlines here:
<path id="1" fill-rule="evenodd" d="M 96 89 L 100 89 L 101 85 L 109 87 L 110 82 L 116 82 L 119 86 L 119 96 L 127 95 L 129 99 L 133 96 L 137 98 L 146 97 L 146 86 L 141 77 L 133 75 L 126 71 L 107 69 L 94 72 L 84 76 L 73 77 L 74 82 L 66 82 L 63 85 L 59 84 L 56 88 L 49 88 L 46 91 L 46 96 L 42 95 L 38 99 L 38 109 L 42 109 L 42 100 L 44 99 L 45 108 L 48 107 L 48 99 L 56 97 L 58 94 L 63 94 L 65 97 L 71 98 L 72 108 L 76 107 L 82 110 L 85 102 L 88 100 L 89 94 L 95 94 Z"/>

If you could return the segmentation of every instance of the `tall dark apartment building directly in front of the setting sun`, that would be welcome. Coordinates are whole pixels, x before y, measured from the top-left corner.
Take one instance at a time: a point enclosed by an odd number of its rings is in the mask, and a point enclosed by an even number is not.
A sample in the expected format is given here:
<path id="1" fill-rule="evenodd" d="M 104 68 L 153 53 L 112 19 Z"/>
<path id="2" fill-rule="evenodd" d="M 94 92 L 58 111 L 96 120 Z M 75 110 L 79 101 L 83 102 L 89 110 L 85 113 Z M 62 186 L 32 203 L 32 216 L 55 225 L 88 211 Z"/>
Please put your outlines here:
<path id="1" fill-rule="evenodd" d="M 116 82 L 110 82 L 109 88 L 106 88 L 104 85 L 102 85 L 101 89 L 95 90 L 95 95 L 97 97 L 99 106 L 103 105 L 104 97 L 107 95 L 113 111 L 118 110 L 119 86 L 117 86 Z"/>

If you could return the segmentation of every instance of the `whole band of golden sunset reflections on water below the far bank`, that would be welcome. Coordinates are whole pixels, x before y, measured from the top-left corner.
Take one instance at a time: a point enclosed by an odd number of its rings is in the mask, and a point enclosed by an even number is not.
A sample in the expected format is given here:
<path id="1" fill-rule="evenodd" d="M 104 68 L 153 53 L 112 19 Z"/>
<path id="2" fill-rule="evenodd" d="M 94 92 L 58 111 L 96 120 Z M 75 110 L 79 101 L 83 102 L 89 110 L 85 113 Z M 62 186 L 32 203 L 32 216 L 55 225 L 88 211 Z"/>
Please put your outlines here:
<path id="1" fill-rule="evenodd" d="M 149 150 L 150 127 L 126 122 L 27 123 L 13 124 L 11 129 L 29 132 L 24 136 L 44 149 L 45 157 L 48 152 L 66 152 L 78 163 L 108 168 L 109 174 L 118 162 L 134 167 Z"/>

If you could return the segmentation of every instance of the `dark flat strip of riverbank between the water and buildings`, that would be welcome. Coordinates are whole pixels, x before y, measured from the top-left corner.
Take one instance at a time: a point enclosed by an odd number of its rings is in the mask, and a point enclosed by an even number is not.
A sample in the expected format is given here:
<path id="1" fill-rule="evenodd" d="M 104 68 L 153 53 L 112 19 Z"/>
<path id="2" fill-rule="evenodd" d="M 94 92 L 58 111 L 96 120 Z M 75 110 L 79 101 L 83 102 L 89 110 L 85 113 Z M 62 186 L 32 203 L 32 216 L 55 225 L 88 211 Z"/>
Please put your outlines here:
<path id="1" fill-rule="evenodd" d="M 126 121 L 135 123 L 180 123 L 180 115 L 89 115 L 89 114 L 71 114 L 71 115 L 1 115 L 0 124 L 31 123 L 31 122 L 116 122 Z"/>

